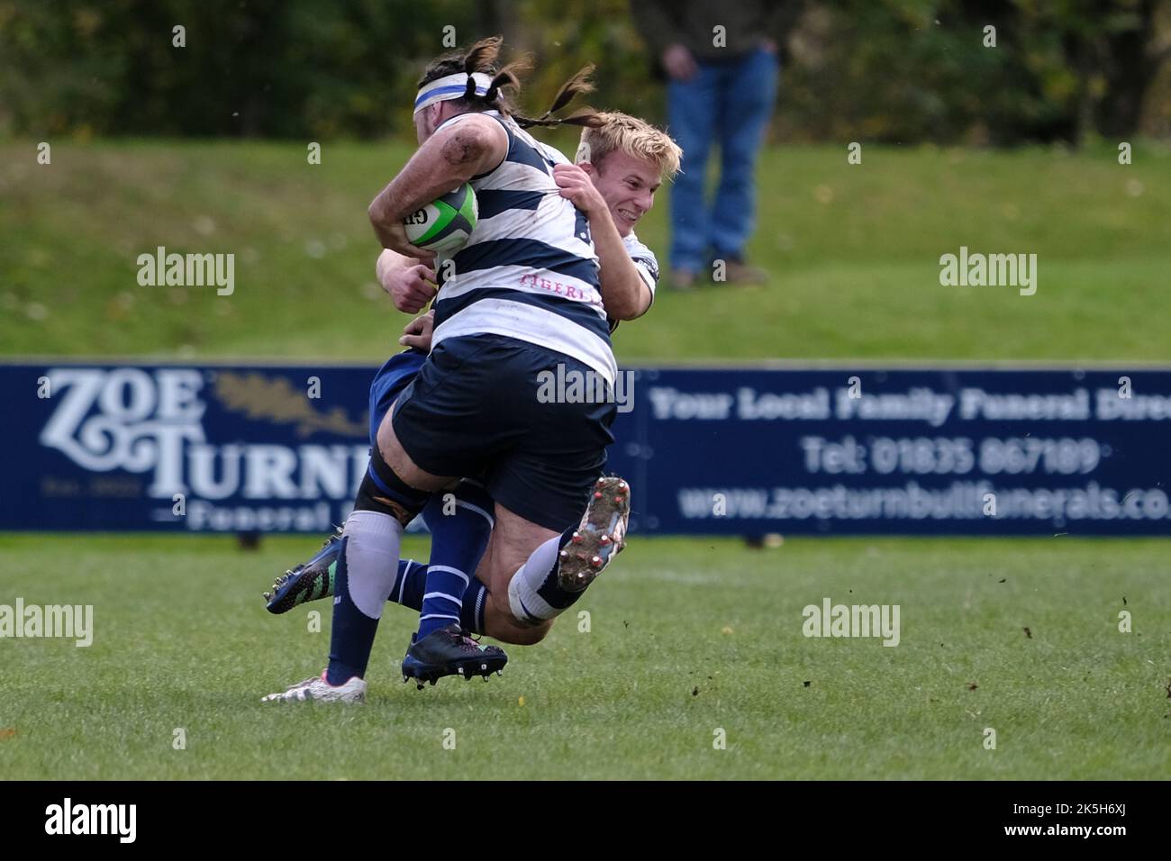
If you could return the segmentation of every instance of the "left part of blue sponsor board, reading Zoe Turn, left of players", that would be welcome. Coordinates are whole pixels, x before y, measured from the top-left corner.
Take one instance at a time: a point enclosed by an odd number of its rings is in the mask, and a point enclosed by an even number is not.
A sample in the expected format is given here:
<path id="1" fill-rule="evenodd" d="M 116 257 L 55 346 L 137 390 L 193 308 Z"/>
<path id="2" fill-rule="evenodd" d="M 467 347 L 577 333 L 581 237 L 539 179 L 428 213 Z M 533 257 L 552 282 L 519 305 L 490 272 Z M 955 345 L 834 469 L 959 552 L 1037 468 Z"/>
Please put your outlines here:
<path id="1" fill-rule="evenodd" d="M 372 369 L 0 365 L 7 529 L 324 532 L 369 452 Z"/>

